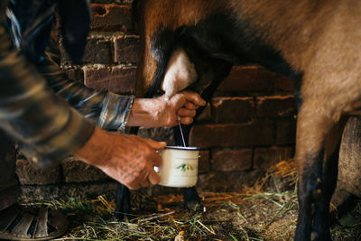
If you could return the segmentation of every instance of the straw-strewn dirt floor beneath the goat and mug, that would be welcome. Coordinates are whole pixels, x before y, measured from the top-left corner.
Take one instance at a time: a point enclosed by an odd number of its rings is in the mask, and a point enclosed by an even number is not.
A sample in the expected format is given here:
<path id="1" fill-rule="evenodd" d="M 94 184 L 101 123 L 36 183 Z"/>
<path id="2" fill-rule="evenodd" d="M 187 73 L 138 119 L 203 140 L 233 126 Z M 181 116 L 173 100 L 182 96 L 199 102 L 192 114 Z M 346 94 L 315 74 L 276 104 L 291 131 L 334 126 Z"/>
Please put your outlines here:
<path id="1" fill-rule="evenodd" d="M 204 212 L 183 208 L 182 197 L 133 193 L 134 214 L 116 221 L 112 199 L 67 197 L 42 204 L 67 214 L 69 233 L 57 240 L 292 240 L 297 220 L 296 174 L 289 162 L 257 185 L 235 192 L 201 192 Z M 331 227 L 333 240 L 361 240 L 361 200 Z M 183 239 L 176 239 L 177 241 Z"/>

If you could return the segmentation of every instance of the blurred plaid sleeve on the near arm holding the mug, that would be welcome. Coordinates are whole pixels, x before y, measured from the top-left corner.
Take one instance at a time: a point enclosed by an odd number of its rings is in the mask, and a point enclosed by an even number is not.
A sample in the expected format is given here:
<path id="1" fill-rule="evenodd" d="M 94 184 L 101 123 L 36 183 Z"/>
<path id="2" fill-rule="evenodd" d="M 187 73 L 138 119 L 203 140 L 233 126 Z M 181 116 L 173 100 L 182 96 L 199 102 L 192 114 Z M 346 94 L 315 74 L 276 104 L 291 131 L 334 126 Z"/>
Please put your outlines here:
<path id="1" fill-rule="evenodd" d="M 76 153 L 95 125 L 49 88 L 0 25 L 0 127 L 42 166 Z"/>

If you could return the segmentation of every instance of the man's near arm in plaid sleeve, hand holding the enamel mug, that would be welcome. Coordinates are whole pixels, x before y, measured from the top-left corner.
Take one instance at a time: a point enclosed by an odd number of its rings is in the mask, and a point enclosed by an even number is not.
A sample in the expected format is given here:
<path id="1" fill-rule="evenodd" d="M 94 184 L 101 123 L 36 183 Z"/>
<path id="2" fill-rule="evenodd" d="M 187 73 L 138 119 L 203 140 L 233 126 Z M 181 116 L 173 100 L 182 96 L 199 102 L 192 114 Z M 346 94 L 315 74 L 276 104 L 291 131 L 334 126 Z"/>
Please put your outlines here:
<path id="1" fill-rule="evenodd" d="M 55 93 L 37 70 L 14 49 L 0 24 L 0 127 L 22 152 L 41 166 L 76 154 L 131 189 L 159 181 L 153 170 L 164 143 L 106 133 Z"/>

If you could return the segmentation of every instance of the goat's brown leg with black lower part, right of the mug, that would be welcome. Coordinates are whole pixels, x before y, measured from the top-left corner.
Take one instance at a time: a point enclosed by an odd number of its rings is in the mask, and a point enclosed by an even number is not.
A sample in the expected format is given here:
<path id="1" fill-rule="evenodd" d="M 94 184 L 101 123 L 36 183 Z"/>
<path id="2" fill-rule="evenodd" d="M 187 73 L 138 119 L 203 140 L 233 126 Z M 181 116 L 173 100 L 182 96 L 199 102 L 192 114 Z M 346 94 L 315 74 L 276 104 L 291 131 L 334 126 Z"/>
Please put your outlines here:
<path id="1" fill-rule="evenodd" d="M 298 116 L 299 217 L 294 240 L 329 240 L 329 200 L 335 189 L 339 140 L 345 118 L 335 121 L 320 102 L 305 101 Z"/>

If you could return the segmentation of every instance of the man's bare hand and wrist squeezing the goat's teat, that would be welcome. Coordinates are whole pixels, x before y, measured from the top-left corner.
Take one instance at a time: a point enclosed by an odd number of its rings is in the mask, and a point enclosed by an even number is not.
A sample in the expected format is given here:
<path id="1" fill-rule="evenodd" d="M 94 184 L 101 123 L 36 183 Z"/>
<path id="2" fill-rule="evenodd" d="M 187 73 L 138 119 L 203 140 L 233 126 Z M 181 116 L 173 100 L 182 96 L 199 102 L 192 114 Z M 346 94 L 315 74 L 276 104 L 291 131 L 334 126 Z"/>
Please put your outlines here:
<path id="1" fill-rule="evenodd" d="M 157 98 L 136 98 L 128 119 L 128 126 L 160 127 L 189 125 L 193 122 L 196 109 L 205 106 L 206 101 L 195 92 L 182 91 L 171 99 L 165 96 Z"/>

